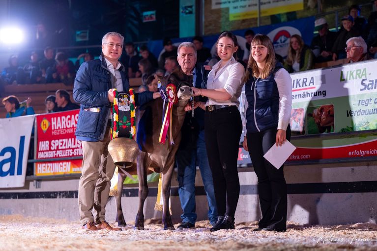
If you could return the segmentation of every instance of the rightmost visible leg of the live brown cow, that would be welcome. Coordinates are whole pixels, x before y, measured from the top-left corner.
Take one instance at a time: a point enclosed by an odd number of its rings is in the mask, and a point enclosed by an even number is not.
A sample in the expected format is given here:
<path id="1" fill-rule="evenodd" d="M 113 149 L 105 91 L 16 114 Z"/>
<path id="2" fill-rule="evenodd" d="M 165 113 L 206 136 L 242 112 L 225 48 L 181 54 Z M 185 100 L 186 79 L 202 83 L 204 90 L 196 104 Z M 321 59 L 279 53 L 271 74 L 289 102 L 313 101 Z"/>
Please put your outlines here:
<path id="1" fill-rule="evenodd" d="M 170 187 L 172 182 L 173 165 L 168 169 L 168 171 L 162 176 L 162 199 L 164 201 L 164 206 L 162 210 L 162 223 L 164 223 L 164 230 L 175 230 L 172 223 L 172 217 L 170 216 L 169 210 L 169 198 L 170 198 Z"/>

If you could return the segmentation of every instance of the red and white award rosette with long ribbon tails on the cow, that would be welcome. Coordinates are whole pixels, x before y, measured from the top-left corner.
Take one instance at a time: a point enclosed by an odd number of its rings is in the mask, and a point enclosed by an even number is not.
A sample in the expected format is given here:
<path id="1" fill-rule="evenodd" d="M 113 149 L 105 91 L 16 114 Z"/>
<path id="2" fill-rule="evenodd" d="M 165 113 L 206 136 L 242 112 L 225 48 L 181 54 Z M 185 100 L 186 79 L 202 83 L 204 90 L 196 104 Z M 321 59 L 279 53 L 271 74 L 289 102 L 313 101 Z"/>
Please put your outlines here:
<path id="1" fill-rule="evenodd" d="M 165 144 L 166 137 L 168 135 L 168 129 L 169 132 L 169 138 L 170 138 L 170 144 L 174 144 L 173 140 L 173 130 L 172 130 L 172 124 L 173 124 L 173 105 L 178 102 L 178 97 L 176 93 L 176 88 L 173 84 L 169 84 L 166 87 L 166 94 L 167 94 L 167 100 L 168 100 L 168 109 L 165 112 L 164 120 L 161 126 L 161 132 L 159 137 L 159 143 Z"/>

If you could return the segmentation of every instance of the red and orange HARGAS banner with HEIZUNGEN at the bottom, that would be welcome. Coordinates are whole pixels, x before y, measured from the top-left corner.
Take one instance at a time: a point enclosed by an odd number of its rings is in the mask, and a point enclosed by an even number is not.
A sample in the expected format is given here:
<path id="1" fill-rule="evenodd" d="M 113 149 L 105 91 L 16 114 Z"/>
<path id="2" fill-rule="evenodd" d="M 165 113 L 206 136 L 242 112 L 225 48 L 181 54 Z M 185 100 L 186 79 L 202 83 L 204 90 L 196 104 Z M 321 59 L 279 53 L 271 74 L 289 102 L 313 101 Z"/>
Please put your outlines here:
<path id="1" fill-rule="evenodd" d="M 35 159 L 83 156 L 75 131 L 79 110 L 36 116 L 37 138 Z M 35 163 L 36 176 L 81 173 L 81 159 Z"/>

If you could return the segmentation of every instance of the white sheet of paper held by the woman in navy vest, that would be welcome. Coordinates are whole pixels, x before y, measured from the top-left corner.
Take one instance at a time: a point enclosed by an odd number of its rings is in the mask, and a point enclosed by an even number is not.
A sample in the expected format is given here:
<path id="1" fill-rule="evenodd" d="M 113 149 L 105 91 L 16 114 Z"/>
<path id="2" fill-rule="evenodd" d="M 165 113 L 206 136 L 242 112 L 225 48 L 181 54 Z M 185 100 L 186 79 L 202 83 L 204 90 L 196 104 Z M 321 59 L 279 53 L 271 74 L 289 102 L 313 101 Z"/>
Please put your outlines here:
<path id="1" fill-rule="evenodd" d="M 263 157 L 279 169 L 295 149 L 296 147 L 287 140 L 282 146 L 274 144 Z"/>

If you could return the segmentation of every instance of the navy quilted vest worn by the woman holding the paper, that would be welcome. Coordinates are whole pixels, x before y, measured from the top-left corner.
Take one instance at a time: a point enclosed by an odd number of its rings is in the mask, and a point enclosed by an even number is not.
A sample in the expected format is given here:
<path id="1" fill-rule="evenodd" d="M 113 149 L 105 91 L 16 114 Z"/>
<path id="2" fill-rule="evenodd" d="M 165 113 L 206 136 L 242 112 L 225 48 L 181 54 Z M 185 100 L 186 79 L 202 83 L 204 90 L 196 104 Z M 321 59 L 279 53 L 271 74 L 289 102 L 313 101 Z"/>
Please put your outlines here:
<path id="1" fill-rule="evenodd" d="M 275 82 L 275 73 L 283 68 L 276 63 L 273 72 L 264 79 L 252 76 L 245 83 L 245 94 L 249 107 L 246 111 L 247 132 L 258 132 L 269 128 L 277 128 L 279 121 L 279 92 Z"/>

